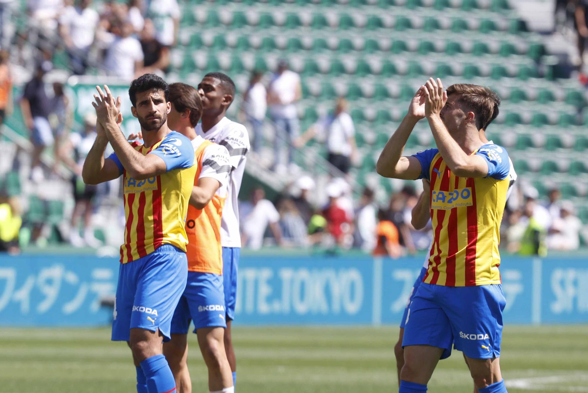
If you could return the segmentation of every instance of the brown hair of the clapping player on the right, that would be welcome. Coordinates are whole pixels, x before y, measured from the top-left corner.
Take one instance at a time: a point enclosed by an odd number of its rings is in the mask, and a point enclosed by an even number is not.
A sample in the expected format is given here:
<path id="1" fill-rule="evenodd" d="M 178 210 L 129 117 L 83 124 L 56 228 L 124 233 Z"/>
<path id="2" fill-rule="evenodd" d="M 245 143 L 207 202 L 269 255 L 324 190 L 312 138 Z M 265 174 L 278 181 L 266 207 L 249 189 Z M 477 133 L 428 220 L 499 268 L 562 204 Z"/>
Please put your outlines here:
<path id="1" fill-rule="evenodd" d="M 490 88 L 471 84 L 455 84 L 447 88 L 447 96 L 452 94 L 459 94 L 458 101 L 472 109 L 476 115 L 477 129 L 486 129 L 498 116 L 500 97 Z"/>

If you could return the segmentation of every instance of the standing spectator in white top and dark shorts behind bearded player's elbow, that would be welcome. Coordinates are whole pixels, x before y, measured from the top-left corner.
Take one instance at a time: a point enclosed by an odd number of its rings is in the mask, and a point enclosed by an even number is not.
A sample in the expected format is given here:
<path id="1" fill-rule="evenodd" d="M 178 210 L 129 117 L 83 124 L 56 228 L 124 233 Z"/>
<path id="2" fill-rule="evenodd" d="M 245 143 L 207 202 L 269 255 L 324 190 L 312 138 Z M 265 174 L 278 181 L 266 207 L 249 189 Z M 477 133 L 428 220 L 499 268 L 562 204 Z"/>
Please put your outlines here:
<path id="1" fill-rule="evenodd" d="M 74 247 L 98 248 L 101 242 L 94 237 L 91 226 L 92 212 L 96 186 L 85 184 L 82 179 L 83 162 L 96 139 L 96 115 L 89 113 L 83 119 L 83 131 L 72 132 L 69 141 L 62 146 L 61 159 L 74 175 L 72 176 L 72 190 L 74 191 L 74 212 L 71 217 L 71 231 L 69 242 Z M 79 219 L 83 220 L 83 238 L 79 234 Z"/>

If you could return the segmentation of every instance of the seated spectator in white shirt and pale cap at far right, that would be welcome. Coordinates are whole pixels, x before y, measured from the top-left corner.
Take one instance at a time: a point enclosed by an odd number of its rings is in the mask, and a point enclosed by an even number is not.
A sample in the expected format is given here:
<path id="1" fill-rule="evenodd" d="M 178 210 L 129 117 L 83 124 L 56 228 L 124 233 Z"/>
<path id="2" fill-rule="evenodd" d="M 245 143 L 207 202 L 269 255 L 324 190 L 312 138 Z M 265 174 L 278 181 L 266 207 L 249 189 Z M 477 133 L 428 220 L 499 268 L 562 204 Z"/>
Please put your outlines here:
<path id="1" fill-rule="evenodd" d="M 554 219 L 547 247 L 560 251 L 574 251 L 580 247 L 582 221 L 574 215 L 574 205 L 570 201 L 561 204 L 561 217 Z"/>

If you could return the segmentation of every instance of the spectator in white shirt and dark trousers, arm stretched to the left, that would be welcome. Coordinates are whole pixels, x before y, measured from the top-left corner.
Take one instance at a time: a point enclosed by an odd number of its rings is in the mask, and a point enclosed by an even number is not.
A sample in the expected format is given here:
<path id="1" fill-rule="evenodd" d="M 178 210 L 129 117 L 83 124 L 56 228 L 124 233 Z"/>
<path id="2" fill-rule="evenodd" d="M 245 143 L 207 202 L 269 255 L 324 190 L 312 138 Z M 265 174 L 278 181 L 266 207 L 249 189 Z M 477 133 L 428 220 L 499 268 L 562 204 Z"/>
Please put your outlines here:
<path id="1" fill-rule="evenodd" d="M 324 135 L 327 144 L 328 161 L 344 174 L 349 173 L 352 161 L 356 161 L 358 148 L 355 144 L 355 126 L 348 113 L 349 104 L 345 98 L 338 98 L 332 114 L 320 119 L 296 140 L 298 148 L 306 145 L 317 134 Z"/>

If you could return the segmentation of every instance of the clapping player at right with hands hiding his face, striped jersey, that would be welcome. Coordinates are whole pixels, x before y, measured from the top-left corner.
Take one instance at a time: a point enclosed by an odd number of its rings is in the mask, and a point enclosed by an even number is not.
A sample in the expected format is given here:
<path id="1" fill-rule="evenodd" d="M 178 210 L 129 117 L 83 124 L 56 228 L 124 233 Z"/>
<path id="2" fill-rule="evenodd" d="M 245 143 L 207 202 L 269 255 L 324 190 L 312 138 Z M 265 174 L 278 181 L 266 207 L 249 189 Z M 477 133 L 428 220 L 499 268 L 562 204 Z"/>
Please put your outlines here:
<path id="1" fill-rule="evenodd" d="M 509 188 L 506 150 L 480 139 L 495 94 L 476 85 L 429 79 L 377 162 L 380 175 L 430 181 L 433 245 L 429 267 L 405 320 L 400 393 L 424 392 L 452 344 L 466 356 L 480 393 L 506 392 L 500 374 L 505 298 L 498 267 L 499 227 Z M 437 149 L 401 156 L 427 118 Z"/>

